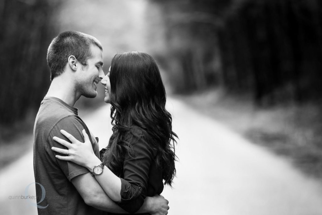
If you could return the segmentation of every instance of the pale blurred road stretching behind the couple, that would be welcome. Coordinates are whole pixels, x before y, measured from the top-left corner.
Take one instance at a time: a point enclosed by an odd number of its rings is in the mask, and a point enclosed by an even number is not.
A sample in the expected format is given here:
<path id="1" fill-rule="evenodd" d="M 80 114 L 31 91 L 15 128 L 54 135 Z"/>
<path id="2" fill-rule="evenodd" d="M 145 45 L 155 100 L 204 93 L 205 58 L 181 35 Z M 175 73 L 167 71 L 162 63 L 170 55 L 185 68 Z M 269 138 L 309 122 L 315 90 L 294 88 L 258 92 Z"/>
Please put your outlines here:
<path id="1" fill-rule="evenodd" d="M 166 187 L 163 192 L 170 201 L 170 215 L 322 214 L 320 182 L 179 100 L 170 98 L 167 106 L 180 137 L 174 189 Z M 110 135 L 109 107 L 83 119 L 104 147 Z M 8 198 L 24 195 L 26 186 L 33 182 L 32 163 L 31 149 L 0 173 L 3 214 L 36 213 L 27 200 Z M 34 186 L 29 194 L 34 195 Z"/>

